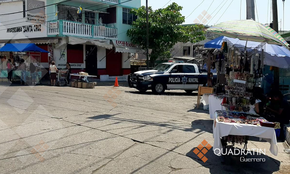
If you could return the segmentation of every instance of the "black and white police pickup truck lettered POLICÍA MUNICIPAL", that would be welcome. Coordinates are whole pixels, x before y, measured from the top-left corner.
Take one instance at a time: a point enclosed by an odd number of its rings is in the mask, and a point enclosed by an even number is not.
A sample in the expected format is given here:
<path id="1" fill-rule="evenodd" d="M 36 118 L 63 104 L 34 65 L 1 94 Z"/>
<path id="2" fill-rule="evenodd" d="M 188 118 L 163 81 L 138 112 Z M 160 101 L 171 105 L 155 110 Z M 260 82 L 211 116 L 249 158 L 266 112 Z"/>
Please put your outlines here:
<path id="1" fill-rule="evenodd" d="M 214 75 L 213 80 L 216 80 Z M 152 90 L 162 94 L 165 90 L 181 89 L 188 93 L 207 83 L 207 71 L 199 70 L 196 64 L 168 62 L 152 70 L 137 71 L 128 75 L 130 88 L 139 91 Z"/>

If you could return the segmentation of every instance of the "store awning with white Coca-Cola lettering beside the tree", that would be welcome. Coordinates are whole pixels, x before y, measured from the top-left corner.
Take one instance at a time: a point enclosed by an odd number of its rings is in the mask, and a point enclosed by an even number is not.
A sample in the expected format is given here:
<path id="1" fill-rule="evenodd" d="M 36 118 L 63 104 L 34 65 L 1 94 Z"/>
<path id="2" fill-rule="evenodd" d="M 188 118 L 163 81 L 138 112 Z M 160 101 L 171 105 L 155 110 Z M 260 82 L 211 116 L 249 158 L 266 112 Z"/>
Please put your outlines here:
<path id="1" fill-rule="evenodd" d="M 113 44 L 116 47 L 116 52 L 143 53 L 140 46 L 127 41 L 113 41 Z"/>

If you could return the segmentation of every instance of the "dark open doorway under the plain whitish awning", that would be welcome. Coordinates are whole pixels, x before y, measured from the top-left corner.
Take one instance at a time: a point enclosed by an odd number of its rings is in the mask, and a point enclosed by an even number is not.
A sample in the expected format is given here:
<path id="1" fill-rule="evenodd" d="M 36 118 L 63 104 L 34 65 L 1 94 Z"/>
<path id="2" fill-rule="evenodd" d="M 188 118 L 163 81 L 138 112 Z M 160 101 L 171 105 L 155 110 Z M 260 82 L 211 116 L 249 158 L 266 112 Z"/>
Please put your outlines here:
<path id="1" fill-rule="evenodd" d="M 97 76 L 97 46 L 95 45 L 86 45 L 86 72 L 91 76 Z"/>

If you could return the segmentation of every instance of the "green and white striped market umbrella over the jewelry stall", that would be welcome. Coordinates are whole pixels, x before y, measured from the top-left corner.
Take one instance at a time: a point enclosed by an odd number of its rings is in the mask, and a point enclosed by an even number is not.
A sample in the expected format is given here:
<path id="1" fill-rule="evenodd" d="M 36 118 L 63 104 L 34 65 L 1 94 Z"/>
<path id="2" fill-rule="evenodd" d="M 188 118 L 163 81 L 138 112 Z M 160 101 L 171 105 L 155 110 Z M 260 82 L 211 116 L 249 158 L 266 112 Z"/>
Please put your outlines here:
<path id="1" fill-rule="evenodd" d="M 244 41 L 267 42 L 268 44 L 290 46 L 273 29 L 252 19 L 221 22 L 205 31 Z"/>

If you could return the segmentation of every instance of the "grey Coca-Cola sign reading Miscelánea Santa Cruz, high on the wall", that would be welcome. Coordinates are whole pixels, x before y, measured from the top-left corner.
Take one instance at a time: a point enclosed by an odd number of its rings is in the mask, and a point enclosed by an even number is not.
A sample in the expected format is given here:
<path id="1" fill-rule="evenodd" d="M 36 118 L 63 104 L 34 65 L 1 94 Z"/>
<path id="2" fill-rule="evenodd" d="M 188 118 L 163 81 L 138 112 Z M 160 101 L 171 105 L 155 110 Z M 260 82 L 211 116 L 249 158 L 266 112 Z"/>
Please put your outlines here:
<path id="1" fill-rule="evenodd" d="M 27 22 L 45 22 L 45 2 L 26 0 Z"/>

